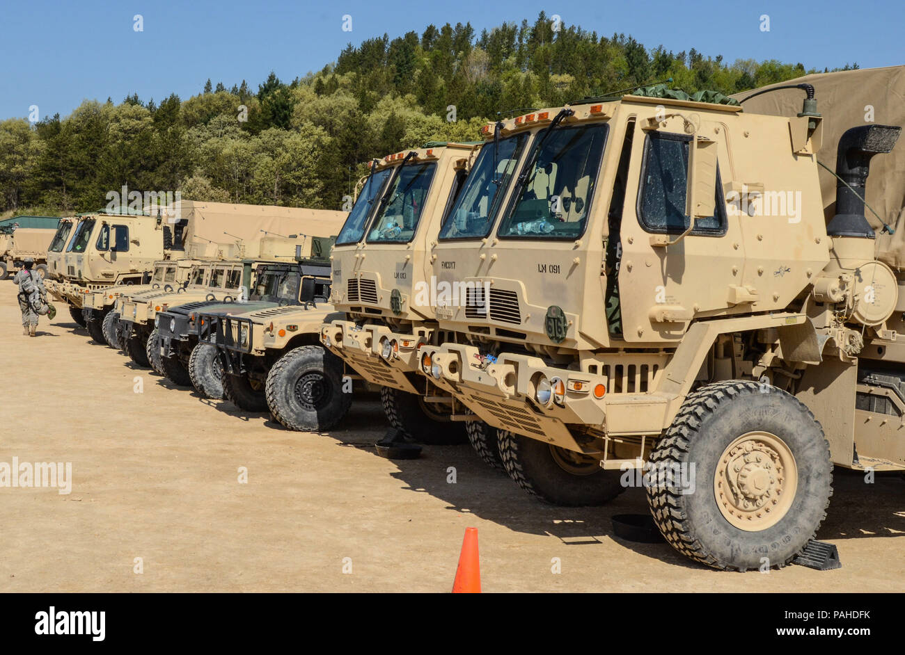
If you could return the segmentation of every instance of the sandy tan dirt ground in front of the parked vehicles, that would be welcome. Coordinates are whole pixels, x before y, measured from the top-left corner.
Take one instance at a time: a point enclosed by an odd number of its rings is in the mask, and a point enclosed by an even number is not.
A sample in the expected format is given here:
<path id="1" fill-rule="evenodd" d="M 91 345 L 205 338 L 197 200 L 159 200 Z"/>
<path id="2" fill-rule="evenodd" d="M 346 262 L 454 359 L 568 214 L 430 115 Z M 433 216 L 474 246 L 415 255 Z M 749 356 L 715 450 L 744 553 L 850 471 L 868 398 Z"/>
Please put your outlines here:
<path id="1" fill-rule="evenodd" d="M 448 592 L 472 526 L 485 592 L 905 586 L 899 474 L 866 484 L 837 469 L 819 537 L 839 548 L 841 569 L 723 573 L 664 543 L 614 538 L 611 516 L 646 512 L 643 490 L 603 509 L 563 509 L 530 498 L 467 445 L 383 459 L 373 399 L 330 435 L 292 433 L 137 368 L 91 342 L 62 304 L 37 338 L 24 337 L 14 294 L 0 282 L 0 463 L 71 463 L 72 486 L 0 487 L 4 591 Z"/>

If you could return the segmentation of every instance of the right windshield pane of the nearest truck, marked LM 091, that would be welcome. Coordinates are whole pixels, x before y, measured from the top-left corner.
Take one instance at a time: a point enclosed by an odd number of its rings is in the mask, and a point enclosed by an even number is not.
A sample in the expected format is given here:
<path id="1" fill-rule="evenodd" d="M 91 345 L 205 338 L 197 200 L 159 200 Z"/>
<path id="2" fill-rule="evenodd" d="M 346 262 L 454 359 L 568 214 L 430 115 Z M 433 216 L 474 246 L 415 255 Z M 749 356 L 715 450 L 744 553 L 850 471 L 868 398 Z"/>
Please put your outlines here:
<path id="1" fill-rule="evenodd" d="M 605 124 L 559 127 L 548 136 L 500 222 L 500 237 L 576 239 L 585 231 L 606 130 Z"/>

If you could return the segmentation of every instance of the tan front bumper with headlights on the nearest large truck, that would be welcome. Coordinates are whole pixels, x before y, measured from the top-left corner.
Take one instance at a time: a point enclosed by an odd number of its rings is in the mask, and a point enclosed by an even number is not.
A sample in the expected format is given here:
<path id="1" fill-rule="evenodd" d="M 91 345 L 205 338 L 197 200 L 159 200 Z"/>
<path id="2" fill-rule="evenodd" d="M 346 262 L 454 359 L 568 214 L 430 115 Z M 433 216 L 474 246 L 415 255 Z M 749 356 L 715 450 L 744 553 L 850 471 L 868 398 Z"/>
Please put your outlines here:
<path id="1" fill-rule="evenodd" d="M 425 355 L 430 357 L 429 371 L 421 367 Z M 539 357 L 520 353 L 488 360 L 474 346 L 445 343 L 421 346 L 418 361 L 423 375 L 491 426 L 579 452 L 583 449 L 568 426 L 591 428 L 597 435 L 659 435 L 673 400 L 656 393 L 658 369 L 643 369 L 641 359 L 612 370 L 595 365 L 601 374 L 548 366 Z M 562 380 L 561 400 L 551 395 L 547 404 L 538 401 L 541 376 Z M 650 377 L 642 382 L 642 376 Z"/>

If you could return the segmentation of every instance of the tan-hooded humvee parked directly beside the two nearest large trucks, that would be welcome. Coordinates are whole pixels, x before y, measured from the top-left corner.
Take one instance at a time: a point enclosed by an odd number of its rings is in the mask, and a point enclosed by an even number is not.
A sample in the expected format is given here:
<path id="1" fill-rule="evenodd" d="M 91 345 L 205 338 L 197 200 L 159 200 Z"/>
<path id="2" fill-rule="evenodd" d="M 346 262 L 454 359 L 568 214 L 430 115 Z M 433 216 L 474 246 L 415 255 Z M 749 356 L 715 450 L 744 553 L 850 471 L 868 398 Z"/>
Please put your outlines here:
<path id="1" fill-rule="evenodd" d="M 260 300 L 252 311 L 195 314 L 193 357 L 209 362 L 209 345 L 216 347 L 225 399 L 248 411 L 269 409 L 292 430 L 326 430 L 346 416 L 357 380 L 318 343 L 321 324 L 334 315 L 329 272 L 326 260 L 268 267 L 256 282 Z"/>

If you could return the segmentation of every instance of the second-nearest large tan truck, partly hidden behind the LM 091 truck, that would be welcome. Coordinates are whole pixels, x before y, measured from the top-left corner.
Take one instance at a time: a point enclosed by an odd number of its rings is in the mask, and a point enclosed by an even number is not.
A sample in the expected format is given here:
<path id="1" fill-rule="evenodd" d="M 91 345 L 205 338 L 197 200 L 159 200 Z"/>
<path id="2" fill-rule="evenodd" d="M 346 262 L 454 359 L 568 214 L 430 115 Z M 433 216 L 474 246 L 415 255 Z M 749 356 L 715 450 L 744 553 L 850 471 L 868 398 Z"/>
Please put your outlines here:
<path id="1" fill-rule="evenodd" d="M 418 345 L 439 336 L 428 248 L 471 188 L 477 151 L 476 144 L 428 144 L 374 166 L 367 202 L 349 214 L 331 257 L 331 302 L 345 315 L 323 326 L 320 341 L 380 386 L 391 426 L 427 444 L 456 443 L 467 431 L 478 453 L 499 465 L 495 432 L 494 447 L 485 447 L 486 425 L 469 420 L 475 417 L 462 405 L 456 411 L 449 393 L 418 374 L 416 360 Z"/>

